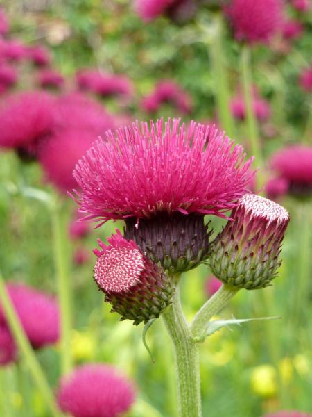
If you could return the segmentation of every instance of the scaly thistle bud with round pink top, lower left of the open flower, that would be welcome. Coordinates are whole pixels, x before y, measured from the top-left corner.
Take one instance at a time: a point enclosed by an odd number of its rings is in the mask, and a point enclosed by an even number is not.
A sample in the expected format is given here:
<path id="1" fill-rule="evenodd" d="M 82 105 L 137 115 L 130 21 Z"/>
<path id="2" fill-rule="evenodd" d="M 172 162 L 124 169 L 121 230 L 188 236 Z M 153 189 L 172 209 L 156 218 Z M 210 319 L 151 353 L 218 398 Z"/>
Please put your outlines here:
<path id="1" fill-rule="evenodd" d="M 94 279 L 105 293 L 105 302 L 121 320 L 133 320 L 135 325 L 148 322 L 171 303 L 174 287 L 164 270 L 150 261 L 133 240 L 125 240 L 121 232 L 112 235 L 102 250 L 94 250 L 98 259 Z"/>

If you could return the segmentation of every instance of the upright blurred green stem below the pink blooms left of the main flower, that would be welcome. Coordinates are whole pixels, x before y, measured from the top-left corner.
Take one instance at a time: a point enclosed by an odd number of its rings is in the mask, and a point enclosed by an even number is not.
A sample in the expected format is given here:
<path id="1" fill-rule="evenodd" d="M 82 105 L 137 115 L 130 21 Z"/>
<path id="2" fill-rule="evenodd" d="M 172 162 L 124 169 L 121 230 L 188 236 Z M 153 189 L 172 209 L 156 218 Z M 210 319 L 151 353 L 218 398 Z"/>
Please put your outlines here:
<path id="1" fill-rule="evenodd" d="M 53 227 L 53 243 L 55 268 L 58 277 L 58 300 L 61 317 L 61 369 L 62 375 L 70 372 L 72 368 L 71 357 L 71 288 L 69 284 L 69 251 L 67 250 L 67 222 L 66 212 L 55 197 L 51 204 Z"/>

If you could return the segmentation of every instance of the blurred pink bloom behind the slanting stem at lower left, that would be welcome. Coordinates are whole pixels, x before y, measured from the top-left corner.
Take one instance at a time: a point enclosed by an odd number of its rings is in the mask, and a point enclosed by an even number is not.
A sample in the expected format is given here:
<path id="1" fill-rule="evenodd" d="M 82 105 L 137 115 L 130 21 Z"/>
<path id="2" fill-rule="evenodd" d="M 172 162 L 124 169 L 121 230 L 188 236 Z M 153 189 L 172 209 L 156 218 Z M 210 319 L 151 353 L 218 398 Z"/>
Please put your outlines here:
<path id="1" fill-rule="evenodd" d="M 7 288 L 31 345 L 39 349 L 56 343 L 60 336 L 60 319 L 55 300 L 24 284 L 10 283 Z M 5 320 L 1 308 L 0 315 L 1 320 Z"/>

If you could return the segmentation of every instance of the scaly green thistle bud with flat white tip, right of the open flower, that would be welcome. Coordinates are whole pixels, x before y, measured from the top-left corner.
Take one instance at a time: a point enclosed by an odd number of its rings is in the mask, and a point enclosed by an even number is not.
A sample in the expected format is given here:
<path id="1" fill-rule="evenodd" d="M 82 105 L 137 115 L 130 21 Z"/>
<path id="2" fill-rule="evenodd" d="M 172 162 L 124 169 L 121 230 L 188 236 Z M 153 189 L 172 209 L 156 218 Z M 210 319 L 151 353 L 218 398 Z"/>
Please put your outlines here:
<path id="1" fill-rule="evenodd" d="M 277 275 L 289 222 L 287 211 L 269 199 L 245 194 L 211 245 L 211 272 L 234 288 L 264 288 Z"/>

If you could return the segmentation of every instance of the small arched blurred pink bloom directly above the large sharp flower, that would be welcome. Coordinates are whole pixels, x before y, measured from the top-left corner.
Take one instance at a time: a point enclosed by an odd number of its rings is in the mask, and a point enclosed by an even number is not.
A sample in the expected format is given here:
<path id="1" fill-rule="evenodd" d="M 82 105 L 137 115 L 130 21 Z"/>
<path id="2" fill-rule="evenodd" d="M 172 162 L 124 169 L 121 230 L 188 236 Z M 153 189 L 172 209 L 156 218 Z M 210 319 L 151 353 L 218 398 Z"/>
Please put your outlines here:
<path id="1" fill-rule="evenodd" d="M 191 97 L 179 84 L 172 80 L 159 81 L 154 92 L 144 97 L 141 104 L 144 111 L 155 113 L 163 103 L 168 101 L 182 113 L 190 113 L 192 110 Z"/>

